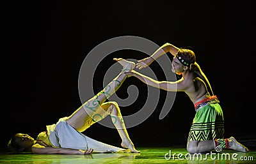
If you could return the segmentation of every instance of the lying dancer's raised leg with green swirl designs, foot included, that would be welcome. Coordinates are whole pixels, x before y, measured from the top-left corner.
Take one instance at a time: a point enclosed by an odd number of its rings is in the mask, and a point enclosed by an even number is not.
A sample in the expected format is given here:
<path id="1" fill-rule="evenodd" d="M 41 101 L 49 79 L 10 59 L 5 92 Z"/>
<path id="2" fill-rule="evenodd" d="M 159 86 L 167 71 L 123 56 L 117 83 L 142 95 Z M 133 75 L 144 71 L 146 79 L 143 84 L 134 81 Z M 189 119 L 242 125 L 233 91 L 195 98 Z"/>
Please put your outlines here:
<path id="1" fill-rule="evenodd" d="M 77 131 L 84 131 L 88 128 L 90 123 L 90 118 L 94 114 L 99 112 L 98 110 L 103 111 L 101 105 L 106 101 L 115 91 L 122 85 L 124 82 L 126 75 L 125 71 L 133 70 L 135 67 L 135 63 L 131 61 L 126 61 L 122 58 L 114 58 L 115 61 L 118 61 L 123 66 L 123 70 L 119 73 L 119 75 L 113 79 L 112 82 L 108 84 L 100 93 L 96 94 L 90 100 L 86 101 L 81 107 L 77 108 L 77 110 L 68 117 L 67 123 L 70 124 Z"/>

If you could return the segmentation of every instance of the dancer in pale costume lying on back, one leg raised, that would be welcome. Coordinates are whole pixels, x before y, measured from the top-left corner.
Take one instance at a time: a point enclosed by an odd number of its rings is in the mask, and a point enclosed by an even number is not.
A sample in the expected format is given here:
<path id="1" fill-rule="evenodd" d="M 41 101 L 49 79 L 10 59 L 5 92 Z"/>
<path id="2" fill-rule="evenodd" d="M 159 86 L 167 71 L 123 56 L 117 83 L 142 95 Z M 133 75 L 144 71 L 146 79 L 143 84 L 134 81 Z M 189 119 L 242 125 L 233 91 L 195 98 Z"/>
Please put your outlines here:
<path id="1" fill-rule="evenodd" d="M 140 153 L 129 138 L 118 104 L 114 101 L 104 102 L 124 82 L 127 77 L 125 72 L 135 67 L 135 63 L 131 61 L 122 58 L 114 58 L 114 60 L 123 66 L 123 70 L 100 93 L 86 101 L 71 116 L 63 117 L 58 123 L 46 126 L 47 131 L 39 133 L 36 140 L 27 134 L 16 133 L 8 146 L 16 151 L 26 150 L 35 154 L 91 154 L 92 152 L 127 151 L 93 140 L 81 133 L 109 115 L 122 138 L 122 147 L 129 149 L 132 153 Z"/>

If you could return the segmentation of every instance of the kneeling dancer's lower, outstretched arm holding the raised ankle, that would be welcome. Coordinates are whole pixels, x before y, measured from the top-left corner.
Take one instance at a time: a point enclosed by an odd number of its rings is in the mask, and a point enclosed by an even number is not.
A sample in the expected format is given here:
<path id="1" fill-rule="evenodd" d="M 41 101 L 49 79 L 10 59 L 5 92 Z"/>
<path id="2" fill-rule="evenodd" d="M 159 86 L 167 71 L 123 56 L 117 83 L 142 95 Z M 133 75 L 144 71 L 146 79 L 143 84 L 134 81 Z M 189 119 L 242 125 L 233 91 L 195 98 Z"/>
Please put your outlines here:
<path id="1" fill-rule="evenodd" d="M 125 75 L 128 75 L 128 77 L 131 77 L 131 76 L 136 77 L 140 79 L 142 82 L 144 82 L 145 84 L 147 84 L 148 86 L 157 87 L 165 91 L 177 92 L 177 91 L 184 91 L 186 88 L 183 85 L 183 78 L 181 78 L 180 80 L 177 80 L 176 82 L 167 82 L 167 81 L 159 82 L 157 80 L 154 80 L 153 78 L 147 77 L 134 70 L 126 72 Z"/>

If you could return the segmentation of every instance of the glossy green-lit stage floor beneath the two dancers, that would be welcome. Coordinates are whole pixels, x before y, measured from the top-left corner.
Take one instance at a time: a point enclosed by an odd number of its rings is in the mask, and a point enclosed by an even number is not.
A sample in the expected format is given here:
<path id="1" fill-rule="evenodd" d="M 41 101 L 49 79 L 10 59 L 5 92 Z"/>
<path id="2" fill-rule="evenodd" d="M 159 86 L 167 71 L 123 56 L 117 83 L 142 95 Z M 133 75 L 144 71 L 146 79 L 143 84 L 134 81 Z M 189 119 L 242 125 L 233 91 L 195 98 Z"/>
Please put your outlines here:
<path id="1" fill-rule="evenodd" d="M 256 163 L 256 149 L 247 153 L 224 150 L 189 154 L 179 147 L 137 147 L 141 153 L 0 154 L 0 163 Z M 171 156 L 170 156 L 171 154 Z M 193 159 L 194 158 L 194 159 Z"/>

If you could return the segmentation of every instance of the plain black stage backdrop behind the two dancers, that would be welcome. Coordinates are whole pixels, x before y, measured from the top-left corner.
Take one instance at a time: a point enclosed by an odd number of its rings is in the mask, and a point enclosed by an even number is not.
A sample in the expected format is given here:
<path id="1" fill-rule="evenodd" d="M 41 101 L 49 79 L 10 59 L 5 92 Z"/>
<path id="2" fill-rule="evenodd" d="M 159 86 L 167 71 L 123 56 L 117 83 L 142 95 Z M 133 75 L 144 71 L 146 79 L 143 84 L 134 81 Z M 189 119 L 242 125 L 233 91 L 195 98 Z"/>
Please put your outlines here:
<path id="1" fill-rule="evenodd" d="M 255 139 L 255 41 L 250 39 L 255 25 L 250 1 L 17 1 L 4 8 L 1 151 L 13 133 L 36 138 L 45 125 L 80 107 L 78 78 L 84 58 L 103 41 L 118 36 L 192 47 L 220 99 L 225 137 Z M 104 87 L 113 57 L 148 55 L 132 50 L 109 54 L 94 73 L 93 91 Z M 157 66 L 150 67 L 164 80 Z M 127 98 L 130 85 L 138 87 L 139 95 L 132 105 L 121 107 L 124 116 L 137 112 L 147 96 L 147 86 L 132 77 L 116 94 Z M 157 108 L 146 121 L 127 129 L 137 147 L 186 145 L 195 116 L 193 104 L 186 94 L 177 93 L 168 115 L 159 119 L 165 96 L 161 91 Z M 115 129 L 100 124 L 84 133 L 108 144 L 121 143 Z"/>

